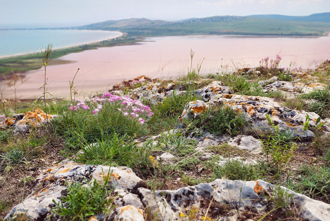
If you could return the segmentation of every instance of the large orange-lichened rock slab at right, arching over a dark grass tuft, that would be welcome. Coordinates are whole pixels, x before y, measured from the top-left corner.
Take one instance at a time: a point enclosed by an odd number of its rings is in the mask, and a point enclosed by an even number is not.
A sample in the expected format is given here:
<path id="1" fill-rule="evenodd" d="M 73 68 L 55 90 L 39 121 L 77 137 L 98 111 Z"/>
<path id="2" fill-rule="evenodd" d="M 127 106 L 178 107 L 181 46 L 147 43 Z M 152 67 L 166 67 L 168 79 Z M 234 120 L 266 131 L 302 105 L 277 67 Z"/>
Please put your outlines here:
<path id="1" fill-rule="evenodd" d="M 300 137 L 301 140 L 311 140 L 311 138 L 315 137 L 313 131 L 309 129 L 306 131 L 303 130 L 303 124 L 305 123 L 306 115 L 309 114 L 309 125 L 310 127 L 315 127 L 315 121 L 319 115 L 314 112 L 292 110 L 283 107 L 280 103 L 269 97 L 218 94 L 206 103 L 199 100 L 189 102 L 183 110 L 181 117 L 179 117 L 179 121 L 183 124 L 183 119 L 194 119 L 209 106 L 220 104 L 228 105 L 235 110 L 245 113 L 246 119 L 254 128 L 264 131 L 274 130 L 266 120 L 266 114 L 269 114 L 274 124 L 279 126 L 280 130 L 292 132 L 291 137 Z M 320 123 L 323 122 L 323 120 L 320 121 Z M 325 133 L 330 132 L 330 126 L 328 124 L 324 124 L 321 129 Z"/>

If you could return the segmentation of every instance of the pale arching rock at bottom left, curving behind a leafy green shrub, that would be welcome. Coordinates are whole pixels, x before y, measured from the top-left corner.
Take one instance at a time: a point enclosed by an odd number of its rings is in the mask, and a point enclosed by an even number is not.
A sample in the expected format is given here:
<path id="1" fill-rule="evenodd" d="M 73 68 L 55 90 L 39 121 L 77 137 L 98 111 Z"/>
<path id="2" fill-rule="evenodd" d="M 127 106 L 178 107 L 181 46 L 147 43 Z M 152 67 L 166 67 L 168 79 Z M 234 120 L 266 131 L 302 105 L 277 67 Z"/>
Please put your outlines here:
<path id="1" fill-rule="evenodd" d="M 110 168 L 109 166 L 85 165 L 65 160 L 40 175 L 34 181 L 35 187 L 32 189 L 32 194 L 23 203 L 16 205 L 5 218 L 10 218 L 17 212 L 27 212 L 31 220 L 44 220 L 55 206 L 52 200 L 59 202 L 62 197 L 67 195 L 64 180 L 78 182 L 95 178 L 103 181 L 108 174 L 110 175 L 109 183 L 120 193 L 123 191 L 136 193 L 138 188 L 147 187 L 147 184 L 142 179 L 126 167 Z M 129 202 L 134 202 L 134 200 L 138 199 L 128 193 L 125 195 L 122 199 L 128 199 Z M 137 208 L 141 207 L 141 205 L 139 202 L 135 204 Z"/>

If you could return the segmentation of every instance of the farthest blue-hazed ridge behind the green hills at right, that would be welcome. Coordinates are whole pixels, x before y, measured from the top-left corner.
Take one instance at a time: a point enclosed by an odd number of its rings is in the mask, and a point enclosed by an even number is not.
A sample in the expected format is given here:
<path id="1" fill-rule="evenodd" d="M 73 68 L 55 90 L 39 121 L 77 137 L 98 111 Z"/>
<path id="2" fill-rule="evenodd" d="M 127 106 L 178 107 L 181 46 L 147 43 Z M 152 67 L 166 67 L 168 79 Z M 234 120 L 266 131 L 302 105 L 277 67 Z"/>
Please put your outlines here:
<path id="1" fill-rule="evenodd" d="M 256 18 L 269 18 L 277 20 L 288 20 L 288 21 L 311 21 L 311 22 L 329 22 L 330 23 L 330 13 L 319 13 L 310 16 L 282 16 L 282 15 L 251 15 L 247 17 Z"/>

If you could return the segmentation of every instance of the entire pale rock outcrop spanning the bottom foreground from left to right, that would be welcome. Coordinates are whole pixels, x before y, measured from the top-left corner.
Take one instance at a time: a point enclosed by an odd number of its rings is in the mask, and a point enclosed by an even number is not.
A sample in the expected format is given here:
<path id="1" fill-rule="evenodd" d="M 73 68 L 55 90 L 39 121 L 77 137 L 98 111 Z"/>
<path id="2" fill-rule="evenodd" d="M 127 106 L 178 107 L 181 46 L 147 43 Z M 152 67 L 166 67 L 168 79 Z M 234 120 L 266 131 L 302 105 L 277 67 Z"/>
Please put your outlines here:
<path id="1" fill-rule="evenodd" d="M 147 184 L 129 168 L 100 165 L 84 165 L 70 160 L 62 161 L 45 171 L 35 181 L 33 193 L 23 203 L 16 205 L 5 218 L 24 212 L 30 220 L 49 220 L 56 217 L 50 210 L 52 202 L 60 202 L 68 192 L 64 180 L 84 182 L 96 179 L 101 182 L 110 177 L 114 188 L 111 195 L 116 207 L 109 213 L 96 214 L 91 220 L 144 220 L 145 211 L 149 215 L 158 214 L 164 220 L 182 220 L 193 211 L 197 220 L 208 216 L 215 220 L 241 220 L 246 212 L 266 214 L 274 208 L 272 196 L 278 197 L 275 186 L 263 180 L 242 181 L 215 179 L 211 183 L 183 187 L 177 190 L 147 189 Z M 306 220 L 326 220 L 330 217 L 330 205 L 312 200 L 304 195 L 286 190 L 292 194 L 287 208 Z M 109 196 L 110 197 L 110 196 Z M 281 196 L 279 196 L 281 197 Z"/>

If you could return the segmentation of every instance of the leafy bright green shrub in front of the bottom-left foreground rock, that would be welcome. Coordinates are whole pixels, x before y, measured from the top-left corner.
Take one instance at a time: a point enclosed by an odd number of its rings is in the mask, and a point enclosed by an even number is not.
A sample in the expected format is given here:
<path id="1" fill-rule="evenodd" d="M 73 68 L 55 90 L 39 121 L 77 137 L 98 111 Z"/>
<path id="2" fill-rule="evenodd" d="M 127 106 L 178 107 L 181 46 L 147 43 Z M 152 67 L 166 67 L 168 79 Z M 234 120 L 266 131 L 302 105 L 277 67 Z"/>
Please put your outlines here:
<path id="1" fill-rule="evenodd" d="M 94 179 L 94 182 L 86 182 L 87 187 L 81 182 L 66 182 L 67 197 L 58 203 L 53 200 L 56 206 L 51 211 L 66 220 L 88 220 L 92 215 L 114 208 L 113 198 L 108 197 L 113 189 L 106 185 L 107 182 L 108 179 L 100 184 Z"/>

